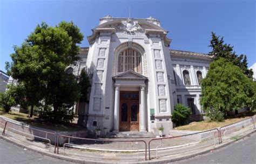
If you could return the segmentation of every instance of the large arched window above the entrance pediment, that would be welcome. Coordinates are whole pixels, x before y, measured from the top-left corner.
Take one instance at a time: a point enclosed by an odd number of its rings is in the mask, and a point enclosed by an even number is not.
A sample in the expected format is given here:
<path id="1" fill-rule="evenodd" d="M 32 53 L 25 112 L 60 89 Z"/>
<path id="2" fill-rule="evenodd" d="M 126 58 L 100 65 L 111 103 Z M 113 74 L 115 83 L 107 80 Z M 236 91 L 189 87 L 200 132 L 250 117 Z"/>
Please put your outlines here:
<path id="1" fill-rule="evenodd" d="M 142 57 L 134 49 L 126 49 L 119 54 L 118 72 L 126 72 L 127 70 L 142 73 Z"/>

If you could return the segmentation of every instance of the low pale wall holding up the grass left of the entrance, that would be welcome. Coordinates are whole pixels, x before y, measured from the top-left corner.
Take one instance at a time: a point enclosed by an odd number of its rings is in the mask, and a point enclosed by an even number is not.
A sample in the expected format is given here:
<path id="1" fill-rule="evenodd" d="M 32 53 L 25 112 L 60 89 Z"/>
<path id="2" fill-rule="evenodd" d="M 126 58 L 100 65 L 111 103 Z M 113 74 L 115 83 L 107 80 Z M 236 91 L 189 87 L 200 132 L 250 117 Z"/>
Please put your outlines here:
<path id="1" fill-rule="evenodd" d="M 8 123 L 6 125 L 6 130 L 21 134 L 22 136 L 25 136 L 34 140 L 38 140 L 38 141 L 46 141 L 45 139 L 41 139 L 41 138 L 48 138 L 50 139 L 52 145 L 55 144 L 55 139 L 56 139 L 56 136 L 58 135 L 80 137 L 80 138 L 86 138 L 90 136 L 90 131 L 88 130 L 79 130 L 74 132 L 54 131 L 54 130 L 44 129 L 42 127 L 36 127 L 36 126 L 31 126 L 25 123 L 17 122 L 15 120 L 12 120 L 3 116 L 0 116 L 0 127 L 2 128 L 4 127 L 5 120 L 8 120 Z M 50 133 L 46 133 L 43 131 L 50 132 Z M 51 134 L 51 133 L 54 133 L 54 134 Z M 41 138 L 38 138 L 38 137 L 41 137 Z M 76 139 L 70 139 L 70 141 L 75 141 L 75 140 Z M 59 138 L 59 145 L 63 145 L 65 142 L 68 142 L 68 138 L 66 137 Z"/>

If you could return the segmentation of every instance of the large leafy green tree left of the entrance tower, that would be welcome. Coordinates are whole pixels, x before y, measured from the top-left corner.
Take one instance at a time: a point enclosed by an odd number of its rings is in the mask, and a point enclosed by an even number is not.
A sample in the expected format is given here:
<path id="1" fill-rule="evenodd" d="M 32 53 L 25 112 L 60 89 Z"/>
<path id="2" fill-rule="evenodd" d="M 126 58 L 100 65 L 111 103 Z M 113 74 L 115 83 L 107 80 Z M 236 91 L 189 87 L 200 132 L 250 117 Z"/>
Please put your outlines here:
<path id="1" fill-rule="evenodd" d="M 76 77 L 65 72 L 79 60 L 77 44 L 82 40 L 83 34 L 72 22 L 56 27 L 42 23 L 21 47 L 15 46 L 12 63 L 6 63 L 6 68 L 23 85 L 24 99 L 31 109 L 43 101 L 53 106 L 57 118 L 58 110 L 70 108 L 82 96 Z"/>

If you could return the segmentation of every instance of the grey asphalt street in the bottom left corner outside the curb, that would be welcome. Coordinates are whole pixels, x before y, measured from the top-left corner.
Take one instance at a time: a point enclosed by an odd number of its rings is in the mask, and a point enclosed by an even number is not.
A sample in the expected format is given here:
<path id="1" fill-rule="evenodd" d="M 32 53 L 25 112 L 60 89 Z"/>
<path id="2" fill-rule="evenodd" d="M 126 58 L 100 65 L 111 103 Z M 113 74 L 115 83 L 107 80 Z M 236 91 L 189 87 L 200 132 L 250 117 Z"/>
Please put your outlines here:
<path id="1" fill-rule="evenodd" d="M 8 141 L 0 139 L 0 163 L 1 164 L 46 164 L 63 163 L 71 164 L 73 162 L 63 161 L 39 153 L 29 151 Z"/>

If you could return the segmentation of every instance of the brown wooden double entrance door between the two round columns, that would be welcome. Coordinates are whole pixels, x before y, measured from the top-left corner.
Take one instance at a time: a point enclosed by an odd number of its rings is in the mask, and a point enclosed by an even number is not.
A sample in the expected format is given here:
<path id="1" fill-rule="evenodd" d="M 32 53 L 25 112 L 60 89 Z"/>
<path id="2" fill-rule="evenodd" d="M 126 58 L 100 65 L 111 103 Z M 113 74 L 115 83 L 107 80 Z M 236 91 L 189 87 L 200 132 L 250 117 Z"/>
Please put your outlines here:
<path id="1" fill-rule="evenodd" d="M 119 131 L 139 131 L 139 92 L 120 93 Z"/>

